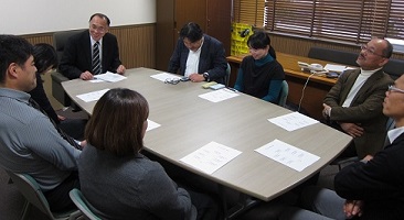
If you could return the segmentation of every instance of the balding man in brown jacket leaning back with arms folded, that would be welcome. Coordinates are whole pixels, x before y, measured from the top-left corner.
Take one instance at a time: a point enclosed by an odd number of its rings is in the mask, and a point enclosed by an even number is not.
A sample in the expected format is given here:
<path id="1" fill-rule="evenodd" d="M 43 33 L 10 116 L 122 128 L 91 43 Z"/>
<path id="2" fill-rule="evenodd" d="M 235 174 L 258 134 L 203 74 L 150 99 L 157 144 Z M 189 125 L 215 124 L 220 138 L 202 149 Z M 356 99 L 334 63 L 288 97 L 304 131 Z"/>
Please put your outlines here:
<path id="1" fill-rule="evenodd" d="M 357 59 L 360 68 L 345 70 L 323 100 L 322 114 L 330 125 L 353 138 L 340 158 L 363 158 L 384 146 L 387 118 L 382 103 L 393 80 L 383 73 L 383 66 L 392 52 L 389 41 L 371 40 L 361 47 Z"/>

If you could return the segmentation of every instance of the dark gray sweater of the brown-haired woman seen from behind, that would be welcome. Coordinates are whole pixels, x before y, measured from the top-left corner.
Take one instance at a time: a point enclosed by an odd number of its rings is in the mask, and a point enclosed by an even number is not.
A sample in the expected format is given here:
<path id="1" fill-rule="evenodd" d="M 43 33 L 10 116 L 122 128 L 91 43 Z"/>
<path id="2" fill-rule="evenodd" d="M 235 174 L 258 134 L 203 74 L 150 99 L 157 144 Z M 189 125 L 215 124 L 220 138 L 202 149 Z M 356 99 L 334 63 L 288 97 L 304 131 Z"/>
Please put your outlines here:
<path id="1" fill-rule="evenodd" d="M 194 219 L 188 191 L 140 153 L 117 157 L 92 145 L 78 160 L 81 190 L 103 219 Z"/>

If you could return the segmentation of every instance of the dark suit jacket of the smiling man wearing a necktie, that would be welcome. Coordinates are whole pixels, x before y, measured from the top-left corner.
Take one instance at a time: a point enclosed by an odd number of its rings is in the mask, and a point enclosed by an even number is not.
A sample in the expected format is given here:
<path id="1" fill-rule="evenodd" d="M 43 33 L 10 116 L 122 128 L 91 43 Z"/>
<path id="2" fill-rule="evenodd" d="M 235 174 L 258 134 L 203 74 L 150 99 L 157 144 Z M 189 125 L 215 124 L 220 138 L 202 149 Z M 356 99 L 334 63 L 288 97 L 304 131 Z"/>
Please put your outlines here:
<path id="1" fill-rule="evenodd" d="M 83 72 L 93 72 L 92 45 L 88 30 L 73 35 L 67 40 L 59 69 L 70 79 L 79 78 Z M 119 59 L 118 41 L 116 36 L 106 33 L 102 45 L 102 73 L 113 72 L 121 64 Z"/>

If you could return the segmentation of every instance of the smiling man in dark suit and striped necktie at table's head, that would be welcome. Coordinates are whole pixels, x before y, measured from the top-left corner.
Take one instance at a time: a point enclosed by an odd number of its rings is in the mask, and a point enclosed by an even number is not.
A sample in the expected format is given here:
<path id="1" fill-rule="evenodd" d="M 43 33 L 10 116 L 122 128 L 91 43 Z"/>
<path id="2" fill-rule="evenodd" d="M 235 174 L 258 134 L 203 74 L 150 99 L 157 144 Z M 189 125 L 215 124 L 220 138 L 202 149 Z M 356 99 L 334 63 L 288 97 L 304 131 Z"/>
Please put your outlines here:
<path id="1" fill-rule="evenodd" d="M 125 73 L 119 59 L 118 41 L 108 33 L 109 24 L 110 20 L 105 14 L 95 13 L 89 18 L 89 31 L 68 38 L 59 67 L 63 75 L 70 79 L 89 80 L 93 75 L 106 72 Z M 97 52 L 94 52 L 95 47 Z M 99 54 L 98 59 L 95 54 Z"/>

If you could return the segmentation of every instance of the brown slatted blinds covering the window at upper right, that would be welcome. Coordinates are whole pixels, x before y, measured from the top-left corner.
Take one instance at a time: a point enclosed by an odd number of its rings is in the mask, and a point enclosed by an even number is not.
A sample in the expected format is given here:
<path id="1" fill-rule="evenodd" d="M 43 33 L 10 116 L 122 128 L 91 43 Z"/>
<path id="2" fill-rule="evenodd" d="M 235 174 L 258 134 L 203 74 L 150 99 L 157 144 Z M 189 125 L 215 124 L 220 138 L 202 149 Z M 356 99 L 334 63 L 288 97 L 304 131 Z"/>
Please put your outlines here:
<path id="1" fill-rule="evenodd" d="M 354 44 L 404 40 L 404 0 L 234 0 L 234 14 L 274 33 Z"/>

